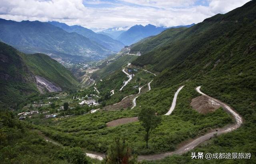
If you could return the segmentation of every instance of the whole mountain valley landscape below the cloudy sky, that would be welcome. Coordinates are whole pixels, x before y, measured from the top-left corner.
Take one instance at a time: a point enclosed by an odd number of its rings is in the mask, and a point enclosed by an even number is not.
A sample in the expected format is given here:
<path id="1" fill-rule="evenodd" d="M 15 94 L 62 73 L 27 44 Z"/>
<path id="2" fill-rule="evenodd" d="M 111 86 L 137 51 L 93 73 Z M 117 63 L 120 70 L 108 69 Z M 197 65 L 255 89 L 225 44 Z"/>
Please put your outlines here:
<path id="1" fill-rule="evenodd" d="M 0 161 L 254 163 L 255 11 L 252 0 L 198 24 L 132 26 L 116 40 L 0 19 Z M 192 158 L 236 152 L 250 158 Z"/>

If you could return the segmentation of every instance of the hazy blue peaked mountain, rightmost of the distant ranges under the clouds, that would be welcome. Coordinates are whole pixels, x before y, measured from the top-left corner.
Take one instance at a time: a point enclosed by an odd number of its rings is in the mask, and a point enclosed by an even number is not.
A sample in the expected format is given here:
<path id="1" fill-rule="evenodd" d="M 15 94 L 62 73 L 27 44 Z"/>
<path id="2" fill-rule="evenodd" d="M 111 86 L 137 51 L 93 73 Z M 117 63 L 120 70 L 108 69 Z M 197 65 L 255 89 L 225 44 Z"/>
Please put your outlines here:
<path id="1" fill-rule="evenodd" d="M 180 28 L 180 27 L 190 27 L 194 24 L 190 24 L 187 26 L 176 26 L 173 28 Z M 138 42 L 139 40 L 142 40 L 143 38 L 146 38 L 148 36 L 154 36 L 157 34 L 160 34 L 164 30 L 168 28 L 165 27 L 156 27 L 152 24 L 148 24 L 146 26 L 142 25 L 135 25 L 129 28 L 126 32 L 123 32 L 118 36 L 116 39 L 120 42 L 124 43 L 125 45 L 130 45 L 133 43 Z"/>

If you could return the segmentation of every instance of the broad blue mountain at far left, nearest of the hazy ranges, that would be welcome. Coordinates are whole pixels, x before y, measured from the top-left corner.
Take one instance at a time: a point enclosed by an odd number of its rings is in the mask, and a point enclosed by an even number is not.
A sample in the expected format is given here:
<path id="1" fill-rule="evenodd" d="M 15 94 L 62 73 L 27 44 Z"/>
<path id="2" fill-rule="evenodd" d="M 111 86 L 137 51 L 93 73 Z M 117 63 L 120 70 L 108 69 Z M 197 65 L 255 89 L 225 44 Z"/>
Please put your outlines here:
<path id="1" fill-rule="evenodd" d="M 0 41 L 25 53 L 47 53 L 71 60 L 76 60 L 76 56 L 81 56 L 81 60 L 98 60 L 111 53 L 108 48 L 80 34 L 39 21 L 0 19 Z"/>

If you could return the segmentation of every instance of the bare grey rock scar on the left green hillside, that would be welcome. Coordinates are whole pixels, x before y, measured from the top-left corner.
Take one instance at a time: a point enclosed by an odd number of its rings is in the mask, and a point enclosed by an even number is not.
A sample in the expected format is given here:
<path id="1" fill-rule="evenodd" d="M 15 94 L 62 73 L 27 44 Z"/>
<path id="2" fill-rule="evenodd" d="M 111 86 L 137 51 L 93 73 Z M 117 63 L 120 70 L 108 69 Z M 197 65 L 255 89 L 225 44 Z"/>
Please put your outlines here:
<path id="1" fill-rule="evenodd" d="M 60 92 L 62 89 L 59 86 L 54 85 L 52 82 L 46 80 L 41 76 L 35 76 L 36 86 L 41 93 L 48 92 Z"/>

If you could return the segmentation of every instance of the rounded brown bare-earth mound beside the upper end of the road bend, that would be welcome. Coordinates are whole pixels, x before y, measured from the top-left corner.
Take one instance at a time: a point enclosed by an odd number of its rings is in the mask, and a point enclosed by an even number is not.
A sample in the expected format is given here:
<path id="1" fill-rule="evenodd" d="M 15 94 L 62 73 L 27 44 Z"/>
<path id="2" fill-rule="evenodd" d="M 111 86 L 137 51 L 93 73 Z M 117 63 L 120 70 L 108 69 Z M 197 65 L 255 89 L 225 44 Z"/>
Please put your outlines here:
<path id="1" fill-rule="evenodd" d="M 208 112 L 214 112 L 216 109 L 220 108 L 221 105 L 206 96 L 198 96 L 192 99 L 190 103 L 193 109 L 199 113 L 206 114 Z"/>

